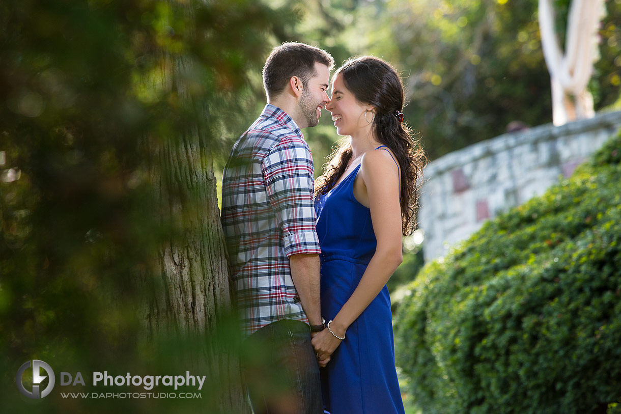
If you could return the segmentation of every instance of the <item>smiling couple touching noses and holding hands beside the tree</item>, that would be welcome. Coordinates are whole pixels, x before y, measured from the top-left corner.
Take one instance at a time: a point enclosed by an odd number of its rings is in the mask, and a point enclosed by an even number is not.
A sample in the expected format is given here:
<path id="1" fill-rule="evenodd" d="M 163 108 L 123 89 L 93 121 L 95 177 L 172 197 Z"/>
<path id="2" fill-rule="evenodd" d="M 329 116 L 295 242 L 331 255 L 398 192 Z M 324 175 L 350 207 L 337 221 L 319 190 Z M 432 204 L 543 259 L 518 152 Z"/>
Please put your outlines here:
<path id="1" fill-rule="evenodd" d="M 245 346 L 263 350 L 242 361 L 256 414 L 404 412 L 386 282 L 414 223 L 422 150 L 402 123 L 391 65 L 352 58 L 329 96 L 332 67 L 316 47 L 274 48 L 263 68 L 268 104 L 224 170 L 235 300 Z M 347 138 L 315 182 L 301 129 L 324 108 Z"/>

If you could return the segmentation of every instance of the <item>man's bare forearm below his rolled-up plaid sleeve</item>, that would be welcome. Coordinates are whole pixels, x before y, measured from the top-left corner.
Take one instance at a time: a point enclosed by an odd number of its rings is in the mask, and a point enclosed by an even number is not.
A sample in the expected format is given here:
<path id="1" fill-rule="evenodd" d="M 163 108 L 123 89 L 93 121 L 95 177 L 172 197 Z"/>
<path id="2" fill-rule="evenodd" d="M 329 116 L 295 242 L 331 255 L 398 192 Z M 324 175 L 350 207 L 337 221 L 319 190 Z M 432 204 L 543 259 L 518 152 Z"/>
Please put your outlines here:
<path id="1" fill-rule="evenodd" d="M 319 255 L 294 254 L 289 257 L 291 278 L 296 285 L 302 308 L 311 325 L 321 324 L 319 301 Z"/>

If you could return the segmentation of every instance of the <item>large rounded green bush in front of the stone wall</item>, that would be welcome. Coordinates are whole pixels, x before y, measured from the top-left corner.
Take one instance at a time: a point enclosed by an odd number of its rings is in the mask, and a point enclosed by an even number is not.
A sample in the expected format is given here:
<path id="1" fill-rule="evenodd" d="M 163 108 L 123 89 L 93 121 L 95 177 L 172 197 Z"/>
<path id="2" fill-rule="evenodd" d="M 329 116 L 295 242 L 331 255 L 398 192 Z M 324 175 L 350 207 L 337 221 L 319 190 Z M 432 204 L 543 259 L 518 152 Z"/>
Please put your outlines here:
<path id="1" fill-rule="evenodd" d="M 621 133 L 417 275 L 395 330 L 422 412 L 605 413 L 619 402 L 620 183 Z"/>

